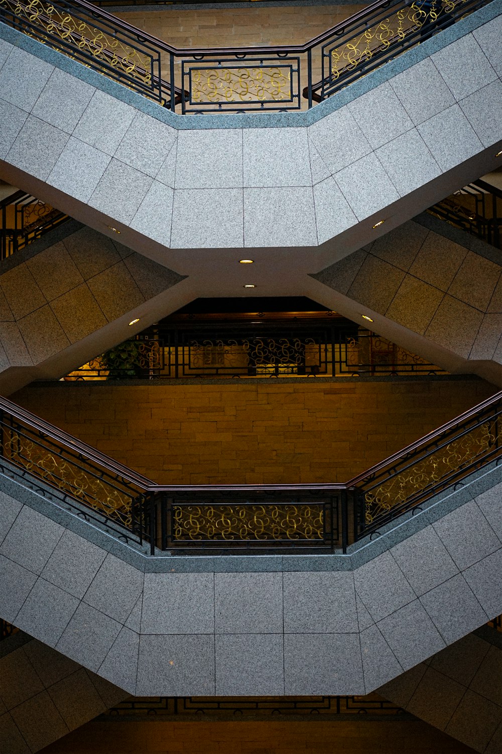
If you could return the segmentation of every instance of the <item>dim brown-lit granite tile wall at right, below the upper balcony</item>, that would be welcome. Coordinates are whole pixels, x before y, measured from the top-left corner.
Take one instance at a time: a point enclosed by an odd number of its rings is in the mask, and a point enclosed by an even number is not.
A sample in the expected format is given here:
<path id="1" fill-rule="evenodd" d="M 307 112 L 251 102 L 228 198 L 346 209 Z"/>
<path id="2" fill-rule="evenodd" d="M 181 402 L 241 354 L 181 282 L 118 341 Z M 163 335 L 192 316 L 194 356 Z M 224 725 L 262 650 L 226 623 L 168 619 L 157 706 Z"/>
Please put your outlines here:
<path id="1" fill-rule="evenodd" d="M 406 222 L 312 277 L 382 315 L 375 327 L 397 323 L 467 362 L 502 364 L 500 253 L 474 247 L 467 233 L 455 234 L 458 243 L 437 223 L 428 229 L 428 218 Z"/>

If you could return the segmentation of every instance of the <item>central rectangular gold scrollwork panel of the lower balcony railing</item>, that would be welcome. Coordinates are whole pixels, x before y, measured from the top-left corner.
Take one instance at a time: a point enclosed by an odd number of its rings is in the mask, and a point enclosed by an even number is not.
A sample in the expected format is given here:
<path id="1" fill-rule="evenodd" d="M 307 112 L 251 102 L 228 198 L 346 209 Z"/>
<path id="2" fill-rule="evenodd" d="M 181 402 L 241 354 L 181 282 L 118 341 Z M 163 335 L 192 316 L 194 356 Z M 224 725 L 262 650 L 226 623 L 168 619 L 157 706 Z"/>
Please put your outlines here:
<path id="1" fill-rule="evenodd" d="M 184 504 L 172 507 L 176 541 L 324 539 L 322 504 Z"/>

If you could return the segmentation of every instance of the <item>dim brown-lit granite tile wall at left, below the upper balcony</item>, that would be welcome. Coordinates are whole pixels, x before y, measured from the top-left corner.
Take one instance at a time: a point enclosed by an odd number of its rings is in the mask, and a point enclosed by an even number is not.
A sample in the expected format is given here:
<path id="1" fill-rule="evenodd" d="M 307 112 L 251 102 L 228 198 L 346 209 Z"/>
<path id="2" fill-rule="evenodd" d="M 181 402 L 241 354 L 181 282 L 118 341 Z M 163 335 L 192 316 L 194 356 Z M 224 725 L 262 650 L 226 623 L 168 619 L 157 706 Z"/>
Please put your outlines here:
<path id="1" fill-rule="evenodd" d="M 172 195 L 171 189 L 166 190 Z M 159 197 L 155 195 L 153 199 L 158 210 Z M 117 338 L 123 340 L 129 334 L 122 330 L 117 336 L 117 330 L 110 327 L 114 320 L 129 312 L 133 317 L 136 308 L 144 307 L 183 279 L 132 250 L 121 256 L 117 247 L 120 244 L 105 235 L 91 228 L 80 228 L 35 256 L 24 251 L 17 253 L 17 265 L 0 275 L 0 345 L 6 354 L 4 369 L 60 358 L 71 345 L 99 330 L 103 332 L 97 348 L 102 353 L 106 339 L 111 347 L 116 345 Z M 95 357 L 96 345 L 90 343 L 87 348 L 88 357 Z M 75 367 L 85 360 L 80 350 L 77 358 Z M 68 369 L 63 373 L 68 373 Z"/>

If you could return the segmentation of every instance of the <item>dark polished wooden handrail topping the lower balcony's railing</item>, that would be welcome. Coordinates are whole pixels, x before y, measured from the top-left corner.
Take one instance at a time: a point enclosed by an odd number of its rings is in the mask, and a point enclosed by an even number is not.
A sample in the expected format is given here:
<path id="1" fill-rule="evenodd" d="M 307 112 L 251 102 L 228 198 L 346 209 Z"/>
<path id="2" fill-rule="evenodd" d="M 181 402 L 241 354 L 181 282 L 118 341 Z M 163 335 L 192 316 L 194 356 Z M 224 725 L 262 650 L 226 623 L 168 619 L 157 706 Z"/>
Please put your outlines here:
<path id="1" fill-rule="evenodd" d="M 379 464 L 370 467 L 368 470 L 364 471 L 363 474 L 358 474 L 357 477 L 353 477 L 346 483 L 321 484 L 158 485 L 147 477 L 143 477 L 142 474 L 137 474 L 135 471 L 129 469 L 123 464 L 114 461 L 114 459 L 110 458 L 109 455 L 105 455 L 104 453 L 99 452 L 99 450 L 96 450 L 96 448 L 93 448 L 90 445 L 87 445 L 87 443 L 83 443 L 76 437 L 73 437 L 70 434 L 66 433 L 65 431 L 54 427 L 54 425 L 49 424 L 47 421 L 44 421 L 44 419 L 38 418 L 38 416 L 36 416 L 35 414 L 26 411 L 26 409 L 21 408 L 21 406 L 18 406 L 17 403 L 13 403 L 7 398 L 0 397 L 0 409 L 5 409 L 5 411 L 8 411 L 15 418 L 25 422 L 25 424 L 30 428 L 41 431 L 46 434 L 47 437 L 51 437 L 53 440 L 62 443 L 62 445 L 65 445 L 69 449 L 83 454 L 90 461 L 94 461 L 100 466 L 105 467 L 105 469 L 110 471 L 111 473 L 118 474 L 120 477 L 123 477 L 123 479 L 135 483 L 144 492 L 214 492 L 215 490 L 222 490 L 224 492 L 291 492 L 293 490 L 299 490 L 300 492 L 329 492 L 336 490 L 341 491 L 354 489 L 354 487 L 357 486 L 358 483 L 361 483 L 361 481 L 363 481 L 366 477 L 372 474 L 376 474 L 389 464 L 393 464 L 395 461 L 399 461 L 400 458 L 403 458 L 403 456 L 408 455 L 409 452 L 418 449 L 420 446 L 431 443 L 432 440 L 440 437 L 440 435 L 444 432 L 455 428 L 455 426 L 461 424 L 463 421 L 467 421 L 469 418 L 475 416 L 483 409 L 487 409 L 489 406 L 494 405 L 500 399 L 502 399 L 502 391 L 499 391 L 492 395 L 490 398 L 483 400 L 481 403 L 478 403 L 477 406 L 474 406 L 472 409 L 469 409 L 468 411 L 455 417 L 451 421 L 447 421 L 446 424 L 442 425 L 432 432 L 429 432 L 429 434 L 424 435 L 424 437 L 421 437 L 420 440 L 416 440 L 415 443 L 411 443 L 411 445 L 408 445 L 406 446 L 406 448 L 403 448 L 397 453 L 394 453 L 394 455 L 385 458 L 384 461 L 381 461 Z"/>

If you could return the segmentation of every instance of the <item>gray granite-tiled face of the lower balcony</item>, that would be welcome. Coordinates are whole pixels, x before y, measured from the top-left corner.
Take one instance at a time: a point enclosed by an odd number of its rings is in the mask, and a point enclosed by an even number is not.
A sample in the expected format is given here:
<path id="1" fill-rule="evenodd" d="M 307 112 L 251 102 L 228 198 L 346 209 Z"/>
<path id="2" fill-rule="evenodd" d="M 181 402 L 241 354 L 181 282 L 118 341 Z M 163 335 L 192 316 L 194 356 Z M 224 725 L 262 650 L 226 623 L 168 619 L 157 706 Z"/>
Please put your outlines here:
<path id="1" fill-rule="evenodd" d="M 211 557 L 205 566 L 155 557 L 157 572 L 125 546 L 104 556 L 88 524 L 78 521 L 77 534 L 71 516 L 53 522 L 5 493 L 0 615 L 69 658 L 47 677 L 24 648 L 27 688 L 78 664 L 146 696 L 369 693 L 502 611 L 500 489 L 494 467 L 347 556 Z M 40 505 L 49 512 L 48 499 Z M 441 662 L 455 664 L 455 651 Z M 452 681 L 475 679 L 479 695 L 489 677 L 488 665 L 471 664 Z M 37 704 L 52 710 L 56 696 Z M 82 698 L 91 708 L 87 682 Z"/>

